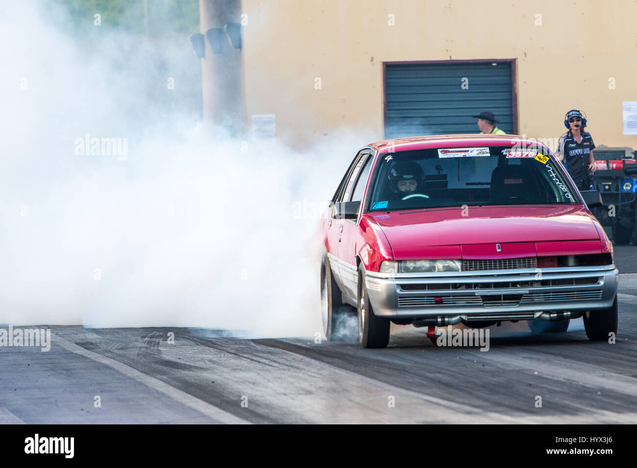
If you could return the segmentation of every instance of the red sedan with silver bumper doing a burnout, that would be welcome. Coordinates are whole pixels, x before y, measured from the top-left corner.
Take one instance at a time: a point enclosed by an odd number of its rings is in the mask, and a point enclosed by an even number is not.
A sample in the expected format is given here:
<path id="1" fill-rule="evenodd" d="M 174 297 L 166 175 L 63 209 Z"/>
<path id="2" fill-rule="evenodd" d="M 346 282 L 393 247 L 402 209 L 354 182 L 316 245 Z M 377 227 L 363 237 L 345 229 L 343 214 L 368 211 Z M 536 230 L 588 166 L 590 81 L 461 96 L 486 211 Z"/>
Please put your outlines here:
<path id="1" fill-rule="evenodd" d="M 487 327 L 505 320 L 587 336 L 617 332 L 613 248 L 555 155 L 519 136 L 453 135 L 362 148 L 324 213 L 324 333 L 358 316 L 364 348 L 390 322 Z M 546 321 L 546 322 L 543 322 Z"/>

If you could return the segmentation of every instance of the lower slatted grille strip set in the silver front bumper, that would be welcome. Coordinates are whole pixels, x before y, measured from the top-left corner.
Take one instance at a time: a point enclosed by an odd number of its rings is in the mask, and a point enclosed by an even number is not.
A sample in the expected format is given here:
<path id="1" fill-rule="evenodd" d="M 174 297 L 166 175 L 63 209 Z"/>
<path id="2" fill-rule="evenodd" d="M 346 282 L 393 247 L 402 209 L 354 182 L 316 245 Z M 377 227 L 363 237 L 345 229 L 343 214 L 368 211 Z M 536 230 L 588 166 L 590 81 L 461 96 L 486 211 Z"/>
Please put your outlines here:
<path id="1" fill-rule="evenodd" d="M 438 299 L 438 302 L 436 302 Z M 515 307 L 519 304 L 541 304 L 542 302 L 592 301 L 601 299 L 601 290 L 529 292 L 527 294 L 496 295 L 447 295 L 399 297 L 398 307 L 426 306 L 484 306 Z"/>

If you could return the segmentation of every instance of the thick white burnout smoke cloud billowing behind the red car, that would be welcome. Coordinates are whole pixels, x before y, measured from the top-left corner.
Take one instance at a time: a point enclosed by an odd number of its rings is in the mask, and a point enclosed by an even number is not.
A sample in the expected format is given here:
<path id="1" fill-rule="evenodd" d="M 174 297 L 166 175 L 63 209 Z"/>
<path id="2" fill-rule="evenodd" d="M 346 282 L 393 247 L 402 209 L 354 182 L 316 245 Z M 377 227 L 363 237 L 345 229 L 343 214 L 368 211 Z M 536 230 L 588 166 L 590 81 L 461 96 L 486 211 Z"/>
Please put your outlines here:
<path id="1" fill-rule="evenodd" d="M 169 96 L 171 70 L 195 60 L 186 36 L 104 28 L 87 46 L 43 5 L 0 5 L 0 323 L 321 330 L 317 215 L 378 138 L 245 151 L 145 92 L 150 76 Z"/>

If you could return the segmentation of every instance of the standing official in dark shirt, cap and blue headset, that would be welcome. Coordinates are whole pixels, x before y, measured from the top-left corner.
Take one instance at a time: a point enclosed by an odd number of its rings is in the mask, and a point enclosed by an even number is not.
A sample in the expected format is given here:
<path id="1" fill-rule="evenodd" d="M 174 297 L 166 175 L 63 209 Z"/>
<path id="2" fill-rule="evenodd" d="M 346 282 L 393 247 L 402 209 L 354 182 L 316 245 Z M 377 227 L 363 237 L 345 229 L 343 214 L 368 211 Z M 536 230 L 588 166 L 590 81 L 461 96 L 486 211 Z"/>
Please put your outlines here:
<path id="1" fill-rule="evenodd" d="M 586 117 L 581 111 L 568 111 L 564 116 L 564 126 L 568 131 L 559 138 L 557 144 L 557 159 L 566 166 L 580 191 L 590 190 L 589 173 L 595 172 L 595 143 L 590 133 L 584 131 L 586 124 Z"/>

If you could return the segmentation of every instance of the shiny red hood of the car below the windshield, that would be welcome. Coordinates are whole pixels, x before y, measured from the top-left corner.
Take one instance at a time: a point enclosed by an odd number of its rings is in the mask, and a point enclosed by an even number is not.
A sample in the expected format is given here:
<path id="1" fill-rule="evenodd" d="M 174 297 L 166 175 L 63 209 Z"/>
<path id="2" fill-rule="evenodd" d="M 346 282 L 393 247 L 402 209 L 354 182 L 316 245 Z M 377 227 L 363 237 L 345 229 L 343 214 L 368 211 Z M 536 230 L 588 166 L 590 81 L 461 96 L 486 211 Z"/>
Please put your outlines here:
<path id="1" fill-rule="evenodd" d="M 423 246 L 599 239 L 583 206 L 489 206 L 373 213 L 394 255 Z"/>

